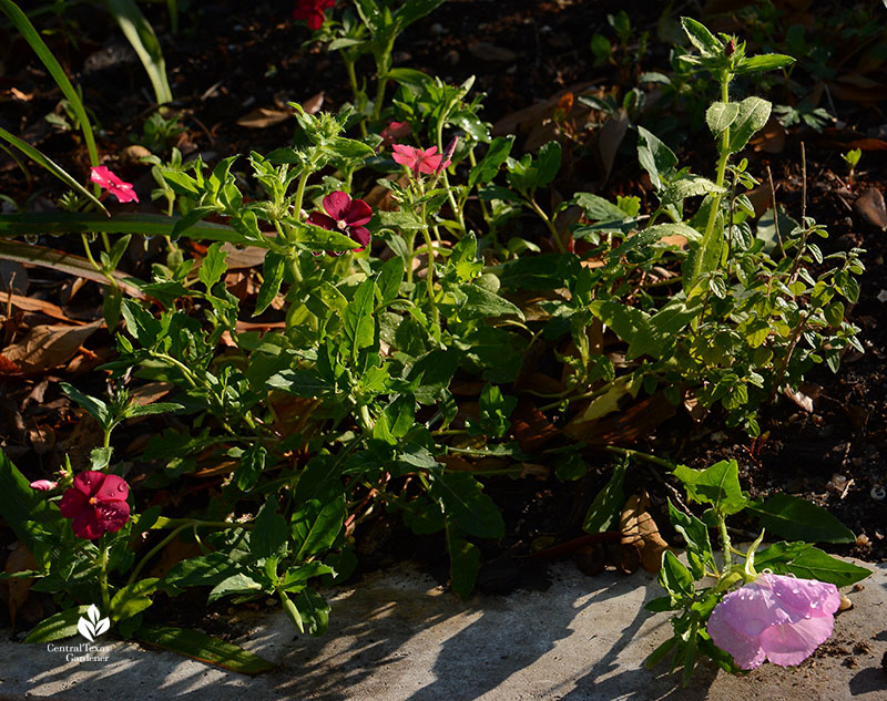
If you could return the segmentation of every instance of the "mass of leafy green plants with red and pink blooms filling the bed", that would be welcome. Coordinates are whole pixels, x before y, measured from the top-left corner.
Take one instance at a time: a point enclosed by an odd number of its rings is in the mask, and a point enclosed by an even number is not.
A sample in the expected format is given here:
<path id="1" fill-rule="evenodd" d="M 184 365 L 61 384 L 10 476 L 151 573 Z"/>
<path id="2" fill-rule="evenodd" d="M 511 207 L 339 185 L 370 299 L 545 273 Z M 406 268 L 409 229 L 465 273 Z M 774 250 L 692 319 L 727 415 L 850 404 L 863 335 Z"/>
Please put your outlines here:
<path id="1" fill-rule="evenodd" d="M 756 93 L 772 90 L 774 73 L 791 86 L 795 59 L 675 18 L 669 74 L 642 74 L 622 95 L 562 96 L 531 134 L 534 146 L 521 147 L 485 121 L 473 78 L 395 66 L 398 38 L 442 4 L 299 0 L 293 31 L 341 61 L 346 103 L 289 102 L 277 111 L 292 120 L 287 141 L 213 158 L 172 146 L 183 127 L 166 105 L 132 134 L 141 159 L 130 169 L 152 178 L 140 188 L 101 164 L 81 93 L 31 19 L 3 1 L 9 31 L 63 93 L 90 165 L 78 178 L 0 131 L 21 177 L 37 163 L 70 188 L 48 213 L 9 198 L 0 230 L 24 243 L 4 241 L 0 256 L 101 290 L 100 318 L 72 327 L 84 329 L 77 334 L 57 330 L 58 341 L 32 329 L 7 346 L 6 372 L 17 382 L 68 362 L 100 327 L 113 339 L 91 380 L 57 383 L 94 422 L 89 450 L 42 473 L 2 461 L 0 513 L 32 557 L 8 567 L 9 581 L 28 581 L 24 596 L 51 594 L 58 608 L 28 640 L 74 635 L 98 605 L 118 635 L 259 671 L 262 660 L 233 646 L 157 626 L 150 608 L 194 588 L 211 604 L 273 596 L 300 631 L 322 635 L 330 610 L 320 587 L 346 580 L 361 530 L 392 517 L 440 536 L 450 586 L 468 597 L 483 549 L 507 535 L 491 496 L 501 481 L 580 483 L 593 470 L 603 480 L 581 509 L 582 543 L 621 543 L 625 569 L 661 567 L 667 596 L 653 608 L 682 611 L 651 662 L 674 652 L 685 679 L 700 654 L 732 671 L 765 657 L 797 663 L 830 632 L 830 617 L 816 617 L 818 627 L 802 622 L 794 647 L 781 648 L 765 640 L 784 626 L 779 615 L 757 642 L 728 625 L 744 616 L 737 595 L 763 600 L 787 575 L 825 583 L 805 591 L 834 614 L 826 585 L 866 570 L 812 543 L 852 543 L 852 532 L 797 497 L 750 499 L 735 461 L 694 471 L 626 447 L 677 411 L 743 432 L 754 447 L 768 437 L 762 411 L 786 395 L 803 402 L 805 375 L 837 372 L 848 352 L 865 350 L 848 320 L 865 251 L 823 243 L 806 172 L 789 212 L 743 157 L 774 122 Z M 649 39 L 635 47 L 626 16 L 609 25 L 618 43 L 598 34 L 590 51 L 628 80 Z M 813 52 L 799 58 L 812 72 L 820 65 Z M 666 145 L 677 127 L 644 110 L 651 84 L 696 115 L 713 144 L 707 162 L 682 164 Z M 644 192 L 553 187 L 589 148 L 580 131 L 595 131 L 580 128 L 575 105 L 608 118 L 597 130 L 602 182 L 630 163 Z M 788 126 L 817 124 L 803 103 L 778 114 Z M 845 161 L 853 177 L 860 155 L 848 150 Z M 143 210 L 149 199 L 162 214 Z M 47 245 L 49 236 L 62 238 Z M 144 258 L 137 276 L 125 271 L 134 257 Z M 73 347 L 41 358 L 34 349 L 47 339 Z M 116 436 L 139 421 L 155 434 L 122 454 Z M 689 566 L 657 535 L 628 533 L 626 512 L 638 520 L 645 509 L 638 495 L 626 505 L 630 462 L 656 466 L 691 502 L 711 505 L 701 517 L 682 502 L 667 506 Z M 212 491 L 170 496 L 195 480 L 212 480 Z M 740 513 L 792 543 L 758 550 L 762 534 L 733 565 L 725 518 Z M 540 539 L 533 555 L 562 546 Z M 169 565 L 157 567 L 163 557 Z M 591 568 L 603 567 L 594 557 Z M 714 585 L 694 585 L 712 576 Z M 730 592 L 743 580 L 751 589 Z"/>

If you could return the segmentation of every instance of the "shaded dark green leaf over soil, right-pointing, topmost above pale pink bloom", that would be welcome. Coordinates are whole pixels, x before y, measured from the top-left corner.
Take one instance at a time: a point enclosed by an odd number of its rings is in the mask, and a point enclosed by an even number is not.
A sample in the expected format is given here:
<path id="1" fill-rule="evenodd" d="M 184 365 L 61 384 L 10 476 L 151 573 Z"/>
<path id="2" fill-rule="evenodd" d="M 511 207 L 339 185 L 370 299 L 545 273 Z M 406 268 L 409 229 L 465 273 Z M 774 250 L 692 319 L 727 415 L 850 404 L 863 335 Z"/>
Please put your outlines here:
<path id="1" fill-rule="evenodd" d="M 750 505 L 761 526 L 791 540 L 807 543 L 854 543 L 856 536 L 826 509 L 792 496 L 777 494 L 763 505 Z"/>

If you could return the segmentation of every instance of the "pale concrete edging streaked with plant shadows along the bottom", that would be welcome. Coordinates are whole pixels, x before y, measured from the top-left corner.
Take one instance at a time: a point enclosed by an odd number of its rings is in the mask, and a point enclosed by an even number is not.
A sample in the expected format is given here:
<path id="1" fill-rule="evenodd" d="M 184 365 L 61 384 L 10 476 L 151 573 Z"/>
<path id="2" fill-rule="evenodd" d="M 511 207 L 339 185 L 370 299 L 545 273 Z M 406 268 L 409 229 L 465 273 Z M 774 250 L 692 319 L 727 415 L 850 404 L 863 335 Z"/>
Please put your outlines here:
<path id="1" fill-rule="evenodd" d="M 854 608 L 813 658 L 744 677 L 706 667 L 690 689 L 664 663 L 643 669 L 671 630 L 665 615 L 642 608 L 661 594 L 651 576 L 585 577 L 562 563 L 544 591 L 467 602 L 409 566 L 377 573 L 333 592 L 319 639 L 298 635 L 282 612 L 248 614 L 237 642 L 278 663 L 254 678 L 123 642 L 102 641 L 108 661 L 65 662 L 6 631 L 0 700 L 885 701 L 887 565 L 869 567 L 864 588 L 849 592 Z"/>

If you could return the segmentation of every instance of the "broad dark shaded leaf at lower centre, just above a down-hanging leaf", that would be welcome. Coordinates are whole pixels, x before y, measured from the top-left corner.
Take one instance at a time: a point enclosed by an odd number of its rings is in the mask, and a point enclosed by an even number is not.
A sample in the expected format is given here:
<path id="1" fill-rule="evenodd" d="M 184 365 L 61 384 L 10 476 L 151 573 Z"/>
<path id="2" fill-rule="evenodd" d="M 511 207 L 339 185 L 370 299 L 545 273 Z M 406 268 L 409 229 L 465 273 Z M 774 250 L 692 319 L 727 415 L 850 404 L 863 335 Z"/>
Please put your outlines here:
<path id="1" fill-rule="evenodd" d="M 447 519 L 468 535 L 478 538 L 501 538 L 504 535 L 502 514 L 470 474 L 437 474 L 430 493 L 439 499 Z"/>

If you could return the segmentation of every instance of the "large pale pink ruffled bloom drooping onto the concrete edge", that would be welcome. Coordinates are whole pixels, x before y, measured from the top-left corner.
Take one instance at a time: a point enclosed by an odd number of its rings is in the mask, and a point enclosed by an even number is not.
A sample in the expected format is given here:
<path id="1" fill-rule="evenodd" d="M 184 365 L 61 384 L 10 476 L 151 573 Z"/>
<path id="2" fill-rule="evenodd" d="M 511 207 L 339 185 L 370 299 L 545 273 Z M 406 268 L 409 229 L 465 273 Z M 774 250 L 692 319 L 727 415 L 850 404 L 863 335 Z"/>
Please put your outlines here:
<path id="1" fill-rule="evenodd" d="M 839 605 L 833 584 L 763 574 L 724 597 L 708 618 L 708 635 L 742 669 L 764 660 L 799 664 L 832 635 Z"/>

